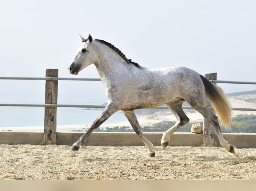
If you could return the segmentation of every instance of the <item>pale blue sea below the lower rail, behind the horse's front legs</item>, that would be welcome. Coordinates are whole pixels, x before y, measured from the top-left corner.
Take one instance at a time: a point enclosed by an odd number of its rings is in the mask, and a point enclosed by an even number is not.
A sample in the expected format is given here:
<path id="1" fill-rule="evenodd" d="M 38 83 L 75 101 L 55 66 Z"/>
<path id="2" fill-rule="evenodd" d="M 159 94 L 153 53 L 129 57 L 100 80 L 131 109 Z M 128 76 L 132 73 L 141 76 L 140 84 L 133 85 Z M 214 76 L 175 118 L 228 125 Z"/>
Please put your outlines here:
<path id="1" fill-rule="evenodd" d="M 90 103 L 88 103 L 90 104 Z M 92 103 L 90 104 L 92 105 Z M 76 126 L 89 127 L 101 114 L 103 109 L 99 108 L 57 108 L 57 131 L 77 130 Z M 0 130 L 43 131 L 44 107 L 0 107 Z M 119 111 L 114 113 L 104 124 L 127 121 L 124 114 Z M 74 126 L 74 128 L 67 128 Z M 76 127 L 76 128 L 75 128 Z M 81 128 L 82 129 L 82 128 Z M 78 129 L 79 130 L 79 129 Z"/>

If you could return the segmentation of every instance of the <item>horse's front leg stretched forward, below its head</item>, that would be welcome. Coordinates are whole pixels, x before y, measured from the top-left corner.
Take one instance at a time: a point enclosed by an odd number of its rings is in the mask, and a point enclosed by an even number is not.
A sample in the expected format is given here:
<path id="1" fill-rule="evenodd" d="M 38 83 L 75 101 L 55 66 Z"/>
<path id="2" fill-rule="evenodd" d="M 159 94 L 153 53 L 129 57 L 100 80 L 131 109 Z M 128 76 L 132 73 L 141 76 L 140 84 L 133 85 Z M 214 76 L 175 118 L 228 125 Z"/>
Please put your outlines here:
<path id="1" fill-rule="evenodd" d="M 86 131 L 85 134 L 83 134 L 77 142 L 75 142 L 72 147 L 70 147 L 70 150 L 79 150 L 80 145 L 86 141 L 86 139 L 89 137 L 92 132 L 97 129 L 102 123 L 104 123 L 113 113 L 118 111 L 119 109 L 117 107 L 113 107 L 112 105 L 108 104 L 101 115 L 92 123 L 91 127 L 88 131 Z"/>

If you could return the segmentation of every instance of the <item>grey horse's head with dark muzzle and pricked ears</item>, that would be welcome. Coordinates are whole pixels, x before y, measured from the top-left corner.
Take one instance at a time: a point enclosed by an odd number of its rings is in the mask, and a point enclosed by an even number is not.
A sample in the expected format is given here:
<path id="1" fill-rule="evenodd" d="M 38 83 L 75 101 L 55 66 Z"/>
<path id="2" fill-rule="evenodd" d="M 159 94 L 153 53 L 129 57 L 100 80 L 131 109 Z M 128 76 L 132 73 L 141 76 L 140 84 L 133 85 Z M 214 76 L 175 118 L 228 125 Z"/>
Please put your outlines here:
<path id="1" fill-rule="evenodd" d="M 92 50 L 93 37 L 89 35 L 88 39 L 81 37 L 81 40 L 83 44 L 80 46 L 75 58 L 68 66 L 70 74 L 78 75 L 81 70 L 95 61 L 95 54 Z"/>

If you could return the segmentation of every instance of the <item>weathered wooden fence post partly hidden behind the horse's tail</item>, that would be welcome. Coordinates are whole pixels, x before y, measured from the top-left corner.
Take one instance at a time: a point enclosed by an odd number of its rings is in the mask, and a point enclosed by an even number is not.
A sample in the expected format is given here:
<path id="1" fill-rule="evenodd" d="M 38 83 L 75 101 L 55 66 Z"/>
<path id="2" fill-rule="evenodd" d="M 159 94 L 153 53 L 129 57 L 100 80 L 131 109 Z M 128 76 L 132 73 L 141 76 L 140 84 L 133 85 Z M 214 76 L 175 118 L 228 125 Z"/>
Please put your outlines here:
<path id="1" fill-rule="evenodd" d="M 206 74 L 205 77 L 208 80 L 217 80 L 217 73 Z M 210 102 L 209 102 L 208 105 L 211 106 Z M 212 110 L 212 112 L 214 113 L 213 110 Z M 204 146 L 213 146 L 213 144 L 214 144 L 214 137 L 215 137 L 215 129 L 204 118 L 203 119 L 203 145 Z"/>

